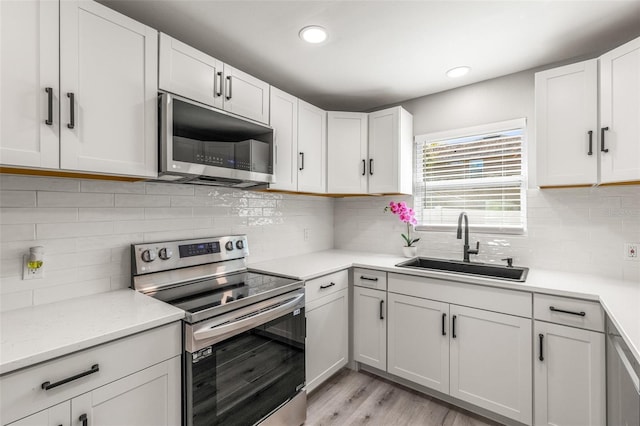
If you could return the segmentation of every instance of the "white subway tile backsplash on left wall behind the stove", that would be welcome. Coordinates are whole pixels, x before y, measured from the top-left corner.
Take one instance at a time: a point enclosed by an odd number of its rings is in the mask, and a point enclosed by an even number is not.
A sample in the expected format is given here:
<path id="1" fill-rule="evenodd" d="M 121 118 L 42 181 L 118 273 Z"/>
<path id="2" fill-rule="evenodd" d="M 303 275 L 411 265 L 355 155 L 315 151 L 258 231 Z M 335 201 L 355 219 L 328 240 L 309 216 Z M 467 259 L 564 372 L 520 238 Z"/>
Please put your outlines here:
<path id="1" fill-rule="evenodd" d="M 244 233 L 250 261 L 333 247 L 322 197 L 0 175 L 0 206 L 0 310 L 128 287 L 135 243 Z M 45 278 L 22 280 L 36 245 Z"/>

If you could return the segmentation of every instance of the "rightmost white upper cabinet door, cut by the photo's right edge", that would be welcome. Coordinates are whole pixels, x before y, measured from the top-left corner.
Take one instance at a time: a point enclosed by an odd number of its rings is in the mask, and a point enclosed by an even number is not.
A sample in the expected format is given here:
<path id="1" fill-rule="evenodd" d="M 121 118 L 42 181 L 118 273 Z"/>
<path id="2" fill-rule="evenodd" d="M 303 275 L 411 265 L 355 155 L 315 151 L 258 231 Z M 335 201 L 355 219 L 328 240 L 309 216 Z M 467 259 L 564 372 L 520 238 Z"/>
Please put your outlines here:
<path id="1" fill-rule="evenodd" d="M 640 38 L 600 57 L 600 181 L 640 180 Z"/>

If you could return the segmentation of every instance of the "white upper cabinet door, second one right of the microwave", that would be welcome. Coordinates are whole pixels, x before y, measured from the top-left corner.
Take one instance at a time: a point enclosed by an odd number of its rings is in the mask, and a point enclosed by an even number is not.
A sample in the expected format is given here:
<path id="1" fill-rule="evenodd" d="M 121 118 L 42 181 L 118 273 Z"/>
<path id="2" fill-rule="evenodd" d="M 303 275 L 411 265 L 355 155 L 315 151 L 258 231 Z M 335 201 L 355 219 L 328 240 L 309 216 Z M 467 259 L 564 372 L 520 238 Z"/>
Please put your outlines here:
<path id="1" fill-rule="evenodd" d="M 327 189 L 327 113 L 298 100 L 298 191 Z"/>

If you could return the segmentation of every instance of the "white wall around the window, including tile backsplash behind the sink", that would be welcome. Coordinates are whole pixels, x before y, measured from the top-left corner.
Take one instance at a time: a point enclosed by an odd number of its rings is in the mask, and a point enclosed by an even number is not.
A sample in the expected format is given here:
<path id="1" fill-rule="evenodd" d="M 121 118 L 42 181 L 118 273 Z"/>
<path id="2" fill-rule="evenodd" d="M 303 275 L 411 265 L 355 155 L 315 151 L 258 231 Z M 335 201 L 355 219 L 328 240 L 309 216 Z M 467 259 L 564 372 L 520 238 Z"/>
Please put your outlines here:
<path id="1" fill-rule="evenodd" d="M 414 134 L 527 119 L 528 231 L 521 236 L 480 235 L 478 261 L 588 272 L 640 282 L 640 262 L 623 259 L 625 242 L 640 242 L 640 186 L 548 189 L 535 185 L 534 73 L 521 72 L 402 104 L 413 114 Z M 412 197 L 345 198 L 335 203 L 335 246 L 401 254 L 405 227 L 383 208 Z M 473 217 L 469 218 L 473 224 Z M 421 232 L 418 254 L 462 259 L 455 231 Z"/>

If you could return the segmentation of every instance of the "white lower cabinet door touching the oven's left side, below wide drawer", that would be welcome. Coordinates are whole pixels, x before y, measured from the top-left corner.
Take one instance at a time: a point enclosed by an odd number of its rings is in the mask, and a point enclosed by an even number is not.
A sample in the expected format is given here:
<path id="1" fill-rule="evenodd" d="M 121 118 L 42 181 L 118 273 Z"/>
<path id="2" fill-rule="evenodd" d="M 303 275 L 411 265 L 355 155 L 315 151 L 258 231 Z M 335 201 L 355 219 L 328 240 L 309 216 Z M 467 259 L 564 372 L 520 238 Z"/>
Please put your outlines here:
<path id="1" fill-rule="evenodd" d="M 181 420 L 180 357 L 141 370 L 71 400 L 72 424 L 172 426 Z"/>

